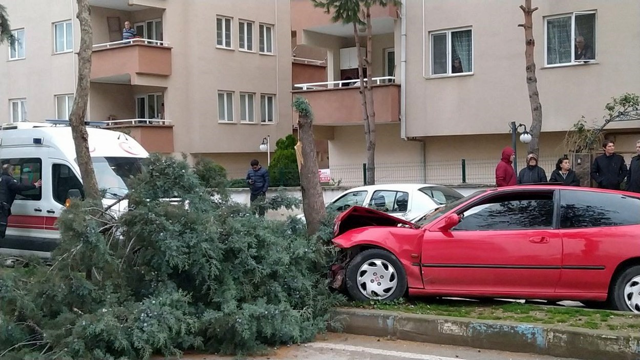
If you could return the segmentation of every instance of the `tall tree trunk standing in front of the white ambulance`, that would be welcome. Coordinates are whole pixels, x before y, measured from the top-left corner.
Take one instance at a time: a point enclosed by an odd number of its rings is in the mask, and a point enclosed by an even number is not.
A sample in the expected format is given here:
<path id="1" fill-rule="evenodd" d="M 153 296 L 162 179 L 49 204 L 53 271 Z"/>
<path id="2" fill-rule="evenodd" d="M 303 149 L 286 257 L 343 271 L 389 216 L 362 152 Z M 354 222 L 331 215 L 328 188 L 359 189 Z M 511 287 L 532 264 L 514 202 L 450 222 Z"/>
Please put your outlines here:
<path id="1" fill-rule="evenodd" d="M 77 0 L 77 19 L 80 21 L 80 49 L 78 51 L 78 81 L 76 96 L 69 115 L 71 133 L 76 145 L 76 158 L 80 175 L 83 181 L 84 196 L 86 199 L 100 199 L 98 183 L 93 172 L 93 163 L 89 153 L 89 136 L 84 126 L 86 108 L 89 101 L 89 84 L 91 75 L 91 53 L 93 43 L 93 30 L 88 0 Z"/>

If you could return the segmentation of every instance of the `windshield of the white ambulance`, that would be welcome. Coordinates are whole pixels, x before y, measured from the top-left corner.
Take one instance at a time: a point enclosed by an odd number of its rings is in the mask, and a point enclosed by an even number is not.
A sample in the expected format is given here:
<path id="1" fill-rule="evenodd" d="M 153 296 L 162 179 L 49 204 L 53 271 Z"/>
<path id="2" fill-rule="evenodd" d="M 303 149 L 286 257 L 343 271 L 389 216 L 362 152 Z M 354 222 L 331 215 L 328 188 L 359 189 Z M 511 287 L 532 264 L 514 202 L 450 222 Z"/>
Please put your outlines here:
<path id="1" fill-rule="evenodd" d="M 142 158 L 95 157 L 93 170 L 98 188 L 119 199 L 129 192 L 127 181 L 142 172 Z"/>

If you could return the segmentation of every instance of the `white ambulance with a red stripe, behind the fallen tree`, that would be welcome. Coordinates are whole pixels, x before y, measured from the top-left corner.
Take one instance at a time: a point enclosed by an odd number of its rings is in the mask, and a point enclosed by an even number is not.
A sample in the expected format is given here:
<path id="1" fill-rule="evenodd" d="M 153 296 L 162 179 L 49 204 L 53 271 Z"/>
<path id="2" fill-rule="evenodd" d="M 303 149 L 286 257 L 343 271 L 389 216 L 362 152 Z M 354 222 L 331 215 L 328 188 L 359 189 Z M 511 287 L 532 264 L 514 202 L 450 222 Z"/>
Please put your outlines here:
<path id="1" fill-rule="evenodd" d="M 140 174 L 148 152 L 134 138 L 102 129 L 102 122 L 86 122 L 93 169 L 106 197 L 105 206 L 127 192 L 125 179 Z M 13 177 L 23 184 L 42 179 L 42 186 L 17 195 L 6 236 L 0 239 L 0 258 L 50 258 L 60 241 L 56 220 L 70 193 L 83 193 L 76 147 L 68 120 L 17 122 L 0 127 L 0 161 L 13 165 Z M 125 200 L 114 206 L 125 211 Z M 4 256 L 3 256 L 4 255 Z"/>

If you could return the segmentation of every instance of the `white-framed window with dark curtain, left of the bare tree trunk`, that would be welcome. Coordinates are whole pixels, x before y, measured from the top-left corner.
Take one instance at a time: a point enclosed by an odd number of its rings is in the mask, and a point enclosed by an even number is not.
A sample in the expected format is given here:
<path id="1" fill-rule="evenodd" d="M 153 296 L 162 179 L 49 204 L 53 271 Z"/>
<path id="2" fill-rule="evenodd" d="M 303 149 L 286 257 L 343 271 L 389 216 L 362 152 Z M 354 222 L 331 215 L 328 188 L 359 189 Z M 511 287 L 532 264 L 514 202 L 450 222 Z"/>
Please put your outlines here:
<path id="1" fill-rule="evenodd" d="M 431 33 L 431 75 L 474 72 L 471 29 Z"/>

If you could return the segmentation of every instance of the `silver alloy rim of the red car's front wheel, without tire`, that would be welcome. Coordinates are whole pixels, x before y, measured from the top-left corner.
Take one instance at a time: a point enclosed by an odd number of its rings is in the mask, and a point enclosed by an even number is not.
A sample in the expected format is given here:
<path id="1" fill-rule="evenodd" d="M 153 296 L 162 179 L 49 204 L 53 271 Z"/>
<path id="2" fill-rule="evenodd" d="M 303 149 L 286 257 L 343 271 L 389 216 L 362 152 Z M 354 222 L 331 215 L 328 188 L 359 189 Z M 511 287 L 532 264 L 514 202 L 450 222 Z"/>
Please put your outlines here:
<path id="1" fill-rule="evenodd" d="M 383 259 L 371 259 L 360 266 L 356 280 L 362 295 L 382 300 L 396 290 L 396 269 Z"/>

